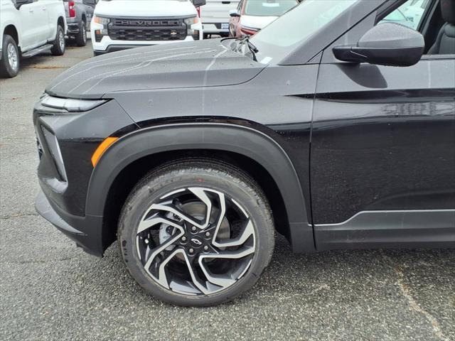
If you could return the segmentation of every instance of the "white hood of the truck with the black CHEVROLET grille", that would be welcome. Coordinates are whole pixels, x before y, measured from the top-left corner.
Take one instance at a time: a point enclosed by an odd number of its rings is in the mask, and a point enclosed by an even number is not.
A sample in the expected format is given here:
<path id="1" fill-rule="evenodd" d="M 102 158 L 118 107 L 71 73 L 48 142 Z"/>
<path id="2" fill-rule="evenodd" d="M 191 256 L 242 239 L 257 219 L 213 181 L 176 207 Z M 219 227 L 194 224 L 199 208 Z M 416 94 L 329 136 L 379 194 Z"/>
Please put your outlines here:
<path id="1" fill-rule="evenodd" d="M 196 16 L 196 8 L 190 1 L 100 1 L 95 7 L 99 16 L 124 16 L 140 18 Z"/>

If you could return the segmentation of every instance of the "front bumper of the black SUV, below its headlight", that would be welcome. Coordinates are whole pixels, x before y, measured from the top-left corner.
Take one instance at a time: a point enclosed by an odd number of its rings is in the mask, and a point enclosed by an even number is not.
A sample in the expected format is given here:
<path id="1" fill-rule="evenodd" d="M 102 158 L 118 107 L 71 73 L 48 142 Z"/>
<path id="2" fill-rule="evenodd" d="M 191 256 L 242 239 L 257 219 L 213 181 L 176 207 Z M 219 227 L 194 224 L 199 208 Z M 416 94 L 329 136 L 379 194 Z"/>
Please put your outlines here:
<path id="1" fill-rule="evenodd" d="M 91 157 L 107 136 L 134 122 L 115 100 L 87 112 L 64 112 L 40 101 L 33 110 L 33 124 L 41 187 L 36 211 L 85 251 L 102 256 L 112 240 L 102 233 L 102 215 L 87 214 L 93 205 L 87 201 L 94 169 Z"/>

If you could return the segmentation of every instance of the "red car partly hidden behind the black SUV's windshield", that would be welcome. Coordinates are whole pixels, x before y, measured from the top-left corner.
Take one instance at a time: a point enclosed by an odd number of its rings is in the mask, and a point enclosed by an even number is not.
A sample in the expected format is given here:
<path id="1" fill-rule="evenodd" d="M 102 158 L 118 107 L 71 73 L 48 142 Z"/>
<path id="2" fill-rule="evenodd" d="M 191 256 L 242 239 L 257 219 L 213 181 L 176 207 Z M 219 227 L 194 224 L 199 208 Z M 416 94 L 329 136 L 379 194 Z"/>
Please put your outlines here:
<path id="1" fill-rule="evenodd" d="M 229 36 L 252 36 L 298 4 L 297 0 L 242 0 L 229 13 Z"/>

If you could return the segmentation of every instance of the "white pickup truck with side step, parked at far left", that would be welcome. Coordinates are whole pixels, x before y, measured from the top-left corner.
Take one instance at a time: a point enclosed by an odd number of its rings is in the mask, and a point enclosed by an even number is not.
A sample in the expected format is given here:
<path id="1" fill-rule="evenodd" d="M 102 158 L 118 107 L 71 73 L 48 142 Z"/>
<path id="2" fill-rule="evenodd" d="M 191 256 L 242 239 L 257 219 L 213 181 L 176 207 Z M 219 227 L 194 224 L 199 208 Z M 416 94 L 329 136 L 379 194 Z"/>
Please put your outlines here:
<path id="1" fill-rule="evenodd" d="M 0 0 L 0 74 L 15 77 L 21 58 L 65 53 L 63 0 Z"/>

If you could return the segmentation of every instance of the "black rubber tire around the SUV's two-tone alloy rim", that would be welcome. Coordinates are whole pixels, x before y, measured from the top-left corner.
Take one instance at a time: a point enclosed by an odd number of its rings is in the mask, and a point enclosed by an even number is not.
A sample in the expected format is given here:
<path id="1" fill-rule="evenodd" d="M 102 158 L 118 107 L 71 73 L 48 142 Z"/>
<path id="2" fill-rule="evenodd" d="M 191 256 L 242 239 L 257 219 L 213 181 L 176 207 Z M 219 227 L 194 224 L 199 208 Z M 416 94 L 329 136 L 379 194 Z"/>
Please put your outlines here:
<path id="1" fill-rule="evenodd" d="M 141 240 L 141 242 L 144 242 L 142 241 L 142 237 L 139 237 L 138 231 L 139 223 L 144 222 L 144 212 L 149 212 L 149 207 L 151 204 L 154 204 L 159 200 L 163 200 L 164 195 L 167 193 L 172 194 L 176 191 L 176 189 L 194 189 L 197 186 L 201 185 L 203 188 L 205 188 L 205 190 L 208 189 L 208 192 L 206 193 L 210 193 L 210 191 L 213 190 L 215 193 L 223 193 L 223 195 L 225 195 L 223 198 L 230 197 L 233 199 L 235 197 L 235 203 L 237 207 L 243 207 L 242 212 L 247 213 L 245 217 L 247 217 L 248 222 L 251 222 L 252 226 L 254 227 L 254 234 L 250 234 L 248 240 L 251 240 L 250 238 L 254 238 L 253 246 L 251 247 L 250 244 L 250 248 L 253 248 L 255 251 L 251 255 L 252 258 L 250 260 L 246 260 L 250 263 L 244 270 L 240 270 L 243 271 L 242 275 L 237 277 L 237 273 L 235 273 L 235 276 L 233 277 L 235 279 L 231 280 L 233 283 L 230 283 L 229 286 L 223 287 L 223 289 L 220 291 L 213 293 L 201 292 L 196 296 L 191 296 L 185 293 L 173 291 L 171 288 L 165 288 L 164 286 L 161 286 L 158 281 L 156 281 L 156 279 L 151 277 L 149 271 L 145 270 L 144 264 L 141 263 L 138 255 L 140 248 L 139 240 Z M 174 202 L 175 201 L 173 200 L 172 205 Z M 234 202 L 234 200 L 232 200 L 232 202 Z M 214 210 L 216 210 L 216 208 Z M 220 211 L 218 211 L 218 214 L 219 212 Z M 232 212 L 230 214 L 232 214 Z M 155 215 L 153 217 L 155 217 Z M 173 215 L 173 217 L 176 217 L 176 215 Z M 228 217 L 228 215 L 220 214 L 220 217 Z M 220 222 L 221 220 L 224 222 L 224 218 L 218 219 L 220 219 Z M 183 227 L 187 229 L 186 225 L 187 223 L 184 222 Z M 160 226 L 163 228 L 163 224 Z M 251 225 L 248 223 L 247 226 Z M 196 227 L 192 228 L 196 229 Z M 245 228 L 245 230 L 246 229 L 247 228 Z M 203 229 L 200 232 L 204 233 L 204 231 L 205 230 Z M 147 233 L 151 232 L 147 231 Z M 217 232 L 214 232 L 213 237 L 209 238 L 213 238 L 212 242 L 215 241 L 215 239 L 218 239 L 218 237 L 216 237 L 216 233 Z M 246 175 L 238 168 L 211 159 L 185 159 L 173 163 L 168 163 L 165 166 L 152 171 L 141 181 L 139 181 L 134 190 L 132 190 L 132 193 L 130 193 L 122 209 L 122 214 L 119 218 L 117 237 L 119 250 L 122 254 L 124 264 L 129 270 L 129 273 L 139 283 L 139 285 L 151 293 L 151 295 L 159 298 L 161 301 L 174 305 L 209 306 L 231 301 L 233 298 L 250 289 L 257 282 L 259 276 L 262 274 L 262 271 L 269 264 L 269 261 L 272 258 L 272 252 L 274 249 L 274 223 L 272 220 L 272 212 L 269 208 L 267 199 L 262 192 L 262 189 L 259 188 L 259 185 L 257 185 L 257 183 L 255 183 L 255 181 L 252 180 L 250 176 Z M 169 238 L 171 239 L 172 237 Z M 178 242 L 181 242 L 181 240 L 183 240 L 183 237 L 178 237 L 178 235 L 176 238 L 178 239 Z M 190 242 L 193 243 L 194 238 L 190 238 L 191 235 L 188 237 L 188 245 Z M 232 237 L 232 234 L 230 234 L 229 238 L 234 237 Z M 237 238 L 240 237 L 237 236 Z M 149 241 L 145 240 L 145 242 L 148 245 Z M 158 247 L 161 247 L 162 245 L 163 244 L 159 244 Z M 156 247 L 156 245 L 154 245 L 154 247 Z M 178 248 L 180 247 L 176 247 L 176 249 Z M 241 249 L 241 247 L 237 247 L 237 249 Z M 163 249 L 162 254 L 164 254 L 166 250 L 167 249 Z M 186 252 L 188 253 L 188 251 Z M 200 254 L 203 254 L 202 249 L 200 249 L 200 252 Z M 237 252 L 237 250 L 234 252 Z M 198 254 L 198 256 L 193 255 L 193 261 L 195 262 L 194 264 L 196 264 L 194 269 L 197 269 L 198 267 L 198 262 L 200 262 L 200 259 L 198 257 L 200 257 L 200 254 Z M 161 259 L 161 263 L 163 263 L 163 259 L 166 258 L 165 256 L 163 257 L 164 258 L 161 258 L 160 251 L 159 256 L 155 256 L 155 259 Z M 144 256 L 142 258 L 145 262 L 146 257 Z M 187 256 L 186 258 L 188 261 Z M 225 259 L 225 257 L 220 258 Z M 210 256 L 208 259 L 210 259 Z M 225 264 L 227 264 L 229 261 L 232 261 L 232 259 L 222 260 L 220 262 L 223 263 L 218 264 L 220 264 L 220 267 L 223 268 L 223 266 L 225 266 Z M 239 261 L 239 259 L 235 261 Z M 246 262 L 245 259 L 241 259 L 240 261 L 244 263 Z M 185 264 L 185 261 L 182 262 Z M 218 264 L 215 266 L 218 266 Z M 166 266 L 167 272 L 167 263 L 164 266 Z M 200 271 L 201 269 L 198 269 L 198 271 L 195 271 L 195 273 L 201 274 Z M 166 274 L 166 281 L 167 277 L 168 275 Z M 170 282 L 171 281 L 168 283 Z M 193 283 L 195 282 L 193 281 Z M 208 281 L 202 283 L 208 285 Z"/>

